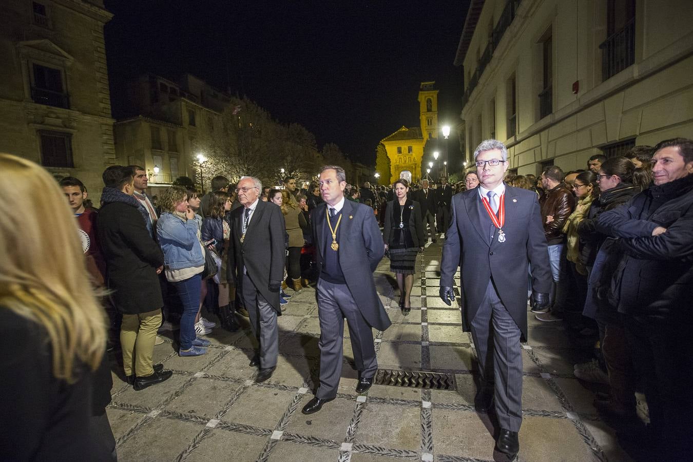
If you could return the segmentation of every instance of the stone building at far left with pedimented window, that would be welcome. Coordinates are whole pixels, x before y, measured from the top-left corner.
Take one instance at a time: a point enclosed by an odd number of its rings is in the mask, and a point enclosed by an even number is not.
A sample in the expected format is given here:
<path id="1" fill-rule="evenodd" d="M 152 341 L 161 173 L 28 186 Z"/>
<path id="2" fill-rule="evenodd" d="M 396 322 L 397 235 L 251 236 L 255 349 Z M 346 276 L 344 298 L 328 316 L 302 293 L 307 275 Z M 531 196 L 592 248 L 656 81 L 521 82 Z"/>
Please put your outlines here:
<path id="1" fill-rule="evenodd" d="M 85 183 L 98 204 L 115 148 L 102 0 L 0 3 L 0 152 Z"/>

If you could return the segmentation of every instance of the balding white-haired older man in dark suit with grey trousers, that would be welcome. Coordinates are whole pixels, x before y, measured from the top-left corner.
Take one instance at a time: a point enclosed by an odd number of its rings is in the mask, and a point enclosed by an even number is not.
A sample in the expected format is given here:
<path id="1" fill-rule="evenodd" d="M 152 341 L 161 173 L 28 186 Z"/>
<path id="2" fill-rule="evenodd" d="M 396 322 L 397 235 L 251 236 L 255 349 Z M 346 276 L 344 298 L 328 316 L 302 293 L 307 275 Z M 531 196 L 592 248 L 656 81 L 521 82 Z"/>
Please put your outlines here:
<path id="1" fill-rule="evenodd" d="M 242 177 L 236 192 L 243 207 L 231 212 L 229 269 L 248 310 L 260 350 L 250 366 L 260 366 L 255 382 L 264 382 L 277 366 L 279 337 L 277 316 L 281 316 L 279 289 L 284 275 L 284 216 L 281 208 L 259 199 L 262 183 Z"/>

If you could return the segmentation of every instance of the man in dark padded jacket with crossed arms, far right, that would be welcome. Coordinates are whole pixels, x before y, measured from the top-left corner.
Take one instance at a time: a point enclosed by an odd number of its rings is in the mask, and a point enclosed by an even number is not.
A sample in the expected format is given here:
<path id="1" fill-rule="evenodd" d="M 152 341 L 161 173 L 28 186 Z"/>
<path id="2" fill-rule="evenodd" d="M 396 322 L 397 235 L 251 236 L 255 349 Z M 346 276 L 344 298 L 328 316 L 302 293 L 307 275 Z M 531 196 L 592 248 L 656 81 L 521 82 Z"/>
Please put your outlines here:
<path id="1" fill-rule="evenodd" d="M 693 140 L 655 147 L 653 185 L 599 215 L 624 256 L 610 302 L 626 320 L 661 460 L 690 459 L 693 414 Z"/>

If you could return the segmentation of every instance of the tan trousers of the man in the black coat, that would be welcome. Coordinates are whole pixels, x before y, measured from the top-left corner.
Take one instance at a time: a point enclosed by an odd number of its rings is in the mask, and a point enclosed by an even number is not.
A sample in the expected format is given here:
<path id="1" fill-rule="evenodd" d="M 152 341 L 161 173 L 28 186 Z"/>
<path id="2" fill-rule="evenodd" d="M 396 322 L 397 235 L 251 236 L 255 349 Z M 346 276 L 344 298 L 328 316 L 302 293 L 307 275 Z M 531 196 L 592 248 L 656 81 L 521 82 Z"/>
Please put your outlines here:
<path id="1" fill-rule="evenodd" d="M 152 375 L 152 355 L 157 330 L 161 326 L 161 308 L 140 314 L 123 314 L 121 348 L 125 375 Z"/>

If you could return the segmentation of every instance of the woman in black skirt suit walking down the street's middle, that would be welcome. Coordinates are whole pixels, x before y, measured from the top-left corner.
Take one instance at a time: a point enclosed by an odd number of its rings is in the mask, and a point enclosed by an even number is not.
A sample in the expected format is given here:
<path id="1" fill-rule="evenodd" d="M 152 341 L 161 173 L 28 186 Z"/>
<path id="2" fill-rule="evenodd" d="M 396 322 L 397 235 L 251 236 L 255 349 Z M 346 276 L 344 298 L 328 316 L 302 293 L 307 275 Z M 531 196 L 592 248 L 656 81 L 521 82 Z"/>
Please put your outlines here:
<path id="1" fill-rule="evenodd" d="M 383 238 L 389 250 L 390 269 L 397 276 L 399 306 L 403 313 L 410 312 L 410 294 L 414 285 L 416 254 L 423 251 L 426 233 L 423 230 L 419 202 L 407 199 L 409 182 L 398 179 L 394 182 L 395 199 L 387 204 Z"/>

